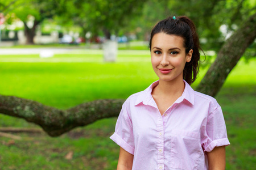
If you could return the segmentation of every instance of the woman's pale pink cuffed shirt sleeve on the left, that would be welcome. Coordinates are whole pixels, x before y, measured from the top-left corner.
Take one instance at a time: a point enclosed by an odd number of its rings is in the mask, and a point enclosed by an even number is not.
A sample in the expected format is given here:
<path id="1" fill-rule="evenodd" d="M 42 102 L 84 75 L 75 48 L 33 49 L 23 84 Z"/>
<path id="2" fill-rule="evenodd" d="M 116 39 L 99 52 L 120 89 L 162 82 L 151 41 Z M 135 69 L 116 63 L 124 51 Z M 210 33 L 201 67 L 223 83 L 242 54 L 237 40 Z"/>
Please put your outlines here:
<path id="1" fill-rule="evenodd" d="M 126 102 L 122 105 L 122 110 L 115 125 L 115 132 L 110 139 L 134 155 L 133 125 L 127 112 Z"/>

